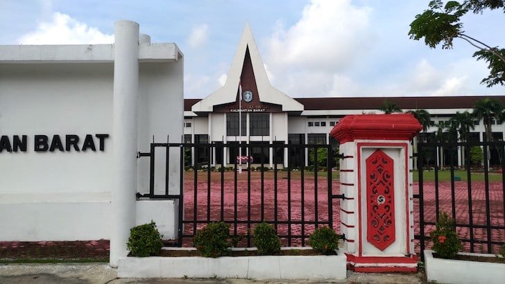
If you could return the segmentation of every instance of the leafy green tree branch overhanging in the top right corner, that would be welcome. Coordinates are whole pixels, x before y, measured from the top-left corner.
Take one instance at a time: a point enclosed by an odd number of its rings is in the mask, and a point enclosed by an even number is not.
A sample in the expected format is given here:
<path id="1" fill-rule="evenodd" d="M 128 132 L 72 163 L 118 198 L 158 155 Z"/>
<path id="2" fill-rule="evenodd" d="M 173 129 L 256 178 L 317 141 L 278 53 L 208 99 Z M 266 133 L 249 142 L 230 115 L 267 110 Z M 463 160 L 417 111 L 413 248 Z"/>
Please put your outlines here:
<path id="1" fill-rule="evenodd" d="M 473 57 L 488 64 L 490 74 L 481 80 L 481 84 L 487 87 L 505 85 L 505 48 L 490 46 L 467 35 L 461 22 L 461 17 L 468 12 L 482 13 L 486 9 L 499 8 L 503 8 L 505 12 L 504 0 L 465 0 L 462 3 L 447 1 L 445 5 L 441 0 L 434 0 L 430 1 L 428 6 L 429 8 L 416 15 L 410 24 L 410 38 L 415 40 L 424 38 L 425 44 L 430 48 L 442 44 L 444 49 L 452 48 L 454 39 L 463 39 L 479 49 Z"/>

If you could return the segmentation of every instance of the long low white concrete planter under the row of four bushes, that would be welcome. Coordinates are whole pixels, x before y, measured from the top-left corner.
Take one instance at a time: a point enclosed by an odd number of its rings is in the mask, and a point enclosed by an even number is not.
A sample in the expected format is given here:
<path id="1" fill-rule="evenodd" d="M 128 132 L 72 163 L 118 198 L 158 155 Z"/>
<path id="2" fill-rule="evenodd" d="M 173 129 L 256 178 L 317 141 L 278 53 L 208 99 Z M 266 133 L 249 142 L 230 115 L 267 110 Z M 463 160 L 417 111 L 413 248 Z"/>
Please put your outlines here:
<path id="1" fill-rule="evenodd" d="M 301 279 L 346 277 L 345 254 L 336 256 L 237 256 L 220 258 L 119 258 L 121 278 Z"/>

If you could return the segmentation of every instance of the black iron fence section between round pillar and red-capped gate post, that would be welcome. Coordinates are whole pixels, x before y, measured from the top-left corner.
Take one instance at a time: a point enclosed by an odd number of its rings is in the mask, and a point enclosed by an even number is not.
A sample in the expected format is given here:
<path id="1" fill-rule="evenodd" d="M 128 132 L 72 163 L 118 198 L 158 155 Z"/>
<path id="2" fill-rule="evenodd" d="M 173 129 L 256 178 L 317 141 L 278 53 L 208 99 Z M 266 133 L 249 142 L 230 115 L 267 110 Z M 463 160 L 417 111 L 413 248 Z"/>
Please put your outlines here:
<path id="1" fill-rule="evenodd" d="M 155 194 L 155 151 L 165 148 L 165 193 Z M 241 148 L 239 150 L 239 148 Z M 169 194 L 170 152 L 178 149 L 178 195 Z M 281 157 L 280 157 L 281 156 Z M 282 143 L 151 143 L 149 193 L 139 197 L 177 199 L 178 246 L 192 245 L 196 230 L 225 222 L 241 246 L 251 246 L 255 224 L 273 224 L 284 246 L 305 246 L 323 225 L 338 230 L 342 195 L 337 188 L 339 155 L 332 145 Z M 246 158 L 246 159 L 244 159 Z"/>

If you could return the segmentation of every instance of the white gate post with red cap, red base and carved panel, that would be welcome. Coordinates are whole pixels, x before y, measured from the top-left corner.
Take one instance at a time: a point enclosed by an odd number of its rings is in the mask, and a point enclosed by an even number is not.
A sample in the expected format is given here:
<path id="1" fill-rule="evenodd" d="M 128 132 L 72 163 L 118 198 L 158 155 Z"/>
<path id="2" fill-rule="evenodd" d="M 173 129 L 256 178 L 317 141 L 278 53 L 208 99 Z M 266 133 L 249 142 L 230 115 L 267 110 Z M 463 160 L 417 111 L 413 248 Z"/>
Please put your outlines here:
<path id="1" fill-rule="evenodd" d="M 341 231 L 357 272 L 416 272 L 410 140 L 422 130 L 411 114 L 345 116 L 340 142 Z"/>

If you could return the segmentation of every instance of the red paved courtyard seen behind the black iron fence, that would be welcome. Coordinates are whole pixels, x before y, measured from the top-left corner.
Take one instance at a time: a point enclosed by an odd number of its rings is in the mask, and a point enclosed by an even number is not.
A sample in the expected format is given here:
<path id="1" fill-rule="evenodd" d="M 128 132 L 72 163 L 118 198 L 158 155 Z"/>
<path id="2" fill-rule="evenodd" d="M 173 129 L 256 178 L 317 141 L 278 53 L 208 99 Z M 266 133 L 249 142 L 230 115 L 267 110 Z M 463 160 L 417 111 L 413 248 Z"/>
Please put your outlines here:
<path id="1" fill-rule="evenodd" d="M 197 213 L 196 217 L 200 221 L 197 227 L 203 227 L 207 220 L 207 204 L 210 204 L 211 221 L 221 219 L 221 173 L 212 172 L 210 182 L 210 199 L 207 199 L 207 172 L 198 172 L 198 193 L 197 193 Z M 262 195 L 261 195 L 261 173 L 250 173 L 250 220 L 262 220 Z M 316 198 L 318 204 L 318 220 L 320 224 L 327 224 L 328 219 L 328 193 L 327 193 L 327 179 L 326 172 L 318 172 L 317 188 L 318 194 L 314 193 L 315 180 L 314 173 L 305 172 L 305 182 L 303 184 L 303 211 L 302 211 L 302 183 L 300 179 L 300 172 L 291 172 L 291 196 L 288 198 L 288 179 L 287 172 L 277 173 L 277 220 L 291 222 L 302 222 L 302 212 L 304 222 L 316 221 Z M 237 175 L 237 220 L 248 220 L 248 172 L 243 172 Z M 414 194 L 418 193 L 418 183 L 413 185 Z M 425 222 L 435 222 L 436 220 L 436 206 L 435 206 L 435 185 L 434 182 L 425 182 L 424 190 L 424 209 L 425 209 Z M 334 179 L 332 181 L 333 194 L 339 194 L 339 181 Z M 273 172 L 264 173 L 264 208 L 263 216 L 267 222 L 275 220 L 275 179 Z M 225 172 L 223 179 L 223 218 L 227 221 L 234 220 L 234 172 Z M 455 217 L 458 224 L 469 223 L 469 206 L 468 206 L 468 184 L 466 181 L 456 181 L 454 188 L 454 195 L 456 199 L 455 204 Z M 490 182 L 489 184 L 489 197 L 490 197 L 490 223 L 494 227 L 504 227 L 504 188 L 502 182 Z M 289 204 L 288 200 L 291 200 Z M 452 188 L 451 183 L 440 182 L 438 186 L 438 200 L 439 210 L 446 211 L 452 215 Z M 291 207 L 291 210 L 289 210 Z M 340 199 L 333 200 L 333 228 L 339 232 L 339 216 L 340 216 Z M 419 233 L 419 202 L 414 199 L 414 221 L 415 232 Z M 194 173 L 187 172 L 185 174 L 185 220 L 194 220 Z M 474 225 L 486 225 L 486 190 L 483 181 L 472 182 L 472 220 Z M 277 227 L 280 235 L 288 234 L 288 224 L 279 224 Z M 425 234 L 429 235 L 429 230 L 434 226 L 426 225 Z M 309 235 L 314 230 L 314 224 L 305 224 L 305 235 Z M 233 231 L 234 225 L 232 224 L 231 230 Z M 185 224 L 185 234 L 192 233 L 193 224 Z M 247 231 L 246 224 L 238 224 L 237 231 L 245 233 Z M 457 232 L 460 238 L 470 238 L 470 230 L 464 227 L 458 227 Z M 291 235 L 300 235 L 302 233 L 302 224 L 291 224 Z M 474 239 L 487 240 L 487 231 L 483 228 L 474 228 Z M 504 242 L 505 229 L 491 229 L 491 240 Z M 307 239 L 305 239 L 307 241 Z M 190 238 L 185 240 L 185 245 L 191 245 Z M 283 245 L 287 245 L 287 240 L 284 238 Z M 301 238 L 293 238 L 291 245 L 301 245 Z M 470 243 L 466 242 L 465 251 L 470 251 Z M 427 242 L 427 247 L 430 247 Z M 493 252 L 498 251 L 498 245 L 493 245 Z M 487 251 L 486 244 L 474 244 L 474 251 Z M 419 244 L 416 241 L 416 251 L 419 251 Z"/>

